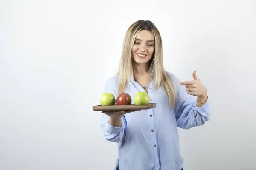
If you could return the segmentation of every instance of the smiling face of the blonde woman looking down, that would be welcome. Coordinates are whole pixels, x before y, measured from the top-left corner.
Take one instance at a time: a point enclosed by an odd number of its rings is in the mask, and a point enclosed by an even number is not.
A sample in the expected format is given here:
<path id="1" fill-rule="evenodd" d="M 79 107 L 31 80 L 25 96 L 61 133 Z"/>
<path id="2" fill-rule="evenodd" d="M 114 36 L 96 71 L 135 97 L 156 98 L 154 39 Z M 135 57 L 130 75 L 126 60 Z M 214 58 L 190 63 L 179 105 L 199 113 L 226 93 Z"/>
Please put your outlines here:
<path id="1" fill-rule="evenodd" d="M 154 35 L 147 30 L 137 34 L 132 48 L 132 59 L 138 64 L 147 63 L 154 52 Z"/>

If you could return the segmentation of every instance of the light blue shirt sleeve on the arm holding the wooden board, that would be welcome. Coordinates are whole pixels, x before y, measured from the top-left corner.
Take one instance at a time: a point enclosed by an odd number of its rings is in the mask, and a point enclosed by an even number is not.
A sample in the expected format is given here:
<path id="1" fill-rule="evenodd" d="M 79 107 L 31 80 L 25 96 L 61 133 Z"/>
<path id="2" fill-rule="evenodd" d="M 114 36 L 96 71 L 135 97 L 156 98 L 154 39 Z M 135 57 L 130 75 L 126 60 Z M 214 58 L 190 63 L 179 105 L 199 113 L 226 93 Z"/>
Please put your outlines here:
<path id="1" fill-rule="evenodd" d="M 104 93 L 112 93 L 115 98 L 117 97 L 117 81 L 115 77 L 108 79 L 105 83 Z M 121 142 L 124 140 L 126 132 L 125 116 L 122 116 L 122 125 L 120 127 L 113 127 L 109 124 L 109 116 L 102 113 L 100 124 L 106 140 L 111 142 Z"/>

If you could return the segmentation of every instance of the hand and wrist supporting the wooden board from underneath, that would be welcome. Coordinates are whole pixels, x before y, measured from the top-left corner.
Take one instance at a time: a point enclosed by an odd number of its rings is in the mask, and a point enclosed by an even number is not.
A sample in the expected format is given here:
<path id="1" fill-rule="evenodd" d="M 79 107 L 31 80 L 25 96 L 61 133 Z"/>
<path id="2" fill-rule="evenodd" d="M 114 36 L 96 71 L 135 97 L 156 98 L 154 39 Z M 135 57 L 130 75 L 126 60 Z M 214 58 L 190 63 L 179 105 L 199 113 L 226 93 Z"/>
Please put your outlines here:
<path id="1" fill-rule="evenodd" d="M 113 127 L 120 127 L 122 125 L 122 116 L 127 113 L 140 111 L 140 110 L 131 110 L 131 111 L 102 111 L 102 113 L 109 116 L 109 124 Z"/>

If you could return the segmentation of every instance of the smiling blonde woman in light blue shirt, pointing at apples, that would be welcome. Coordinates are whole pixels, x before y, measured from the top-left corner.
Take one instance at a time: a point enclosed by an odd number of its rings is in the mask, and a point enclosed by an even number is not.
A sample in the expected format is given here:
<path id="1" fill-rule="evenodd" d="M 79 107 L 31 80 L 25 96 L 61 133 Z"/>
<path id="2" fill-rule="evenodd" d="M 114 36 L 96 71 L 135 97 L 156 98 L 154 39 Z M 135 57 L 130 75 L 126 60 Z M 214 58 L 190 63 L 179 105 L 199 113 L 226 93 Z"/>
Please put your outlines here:
<path id="1" fill-rule="evenodd" d="M 177 127 L 209 120 L 207 89 L 196 76 L 180 82 L 163 68 L 162 39 L 151 21 L 133 23 L 125 34 L 119 72 L 105 84 L 117 97 L 146 91 L 156 108 L 102 112 L 106 140 L 118 143 L 115 170 L 182 170 Z M 194 96 L 197 96 L 195 99 Z M 132 101 L 133 102 L 133 101 Z"/>

